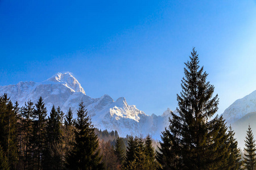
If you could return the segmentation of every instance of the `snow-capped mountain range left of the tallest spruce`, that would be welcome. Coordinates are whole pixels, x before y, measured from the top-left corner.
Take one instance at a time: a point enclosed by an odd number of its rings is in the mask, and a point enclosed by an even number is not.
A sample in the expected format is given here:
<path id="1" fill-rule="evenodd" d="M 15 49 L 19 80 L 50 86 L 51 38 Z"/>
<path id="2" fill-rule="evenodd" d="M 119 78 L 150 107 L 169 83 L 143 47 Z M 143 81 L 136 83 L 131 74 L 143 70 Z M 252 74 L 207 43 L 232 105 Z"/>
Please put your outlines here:
<path id="1" fill-rule="evenodd" d="M 85 94 L 81 84 L 68 72 L 57 73 L 41 83 L 19 82 L 16 85 L 0 86 L 0 95 L 4 93 L 10 96 L 11 101 L 18 101 L 20 106 L 28 100 L 36 103 L 42 96 L 48 113 L 54 104 L 64 112 L 71 107 L 75 117 L 79 103 L 83 101 L 96 128 L 117 130 L 122 137 L 127 134 L 146 137 L 150 134 L 152 138 L 159 140 L 161 131 L 169 124 L 171 112 L 167 109 L 162 116 L 148 116 L 135 105 L 128 105 L 124 97 L 119 97 L 116 101 L 109 95 L 93 99 Z"/>

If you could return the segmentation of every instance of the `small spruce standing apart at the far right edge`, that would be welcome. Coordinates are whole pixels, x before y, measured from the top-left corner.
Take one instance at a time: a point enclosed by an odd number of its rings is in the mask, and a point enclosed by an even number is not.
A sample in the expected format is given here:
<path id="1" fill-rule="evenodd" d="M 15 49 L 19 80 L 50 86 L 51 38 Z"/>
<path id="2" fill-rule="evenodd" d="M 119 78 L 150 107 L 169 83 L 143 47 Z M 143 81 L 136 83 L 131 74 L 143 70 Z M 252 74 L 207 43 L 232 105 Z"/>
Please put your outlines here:
<path id="1" fill-rule="evenodd" d="M 246 131 L 246 140 L 245 140 L 245 157 L 243 157 L 245 168 L 247 170 L 256 169 L 256 147 L 255 147 L 255 140 L 253 137 L 253 131 L 249 125 L 248 130 Z"/>

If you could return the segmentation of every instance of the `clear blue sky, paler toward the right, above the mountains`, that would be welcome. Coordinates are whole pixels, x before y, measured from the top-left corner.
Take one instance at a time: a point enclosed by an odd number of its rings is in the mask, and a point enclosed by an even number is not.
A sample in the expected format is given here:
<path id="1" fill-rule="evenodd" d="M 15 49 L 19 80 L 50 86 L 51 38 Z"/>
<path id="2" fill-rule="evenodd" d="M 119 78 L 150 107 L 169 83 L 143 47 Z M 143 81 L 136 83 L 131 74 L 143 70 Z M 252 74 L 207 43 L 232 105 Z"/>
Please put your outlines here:
<path id="1" fill-rule="evenodd" d="M 162 114 L 193 46 L 221 114 L 256 90 L 256 1 L 0 0 L 0 86 L 70 71 L 91 97 Z"/>

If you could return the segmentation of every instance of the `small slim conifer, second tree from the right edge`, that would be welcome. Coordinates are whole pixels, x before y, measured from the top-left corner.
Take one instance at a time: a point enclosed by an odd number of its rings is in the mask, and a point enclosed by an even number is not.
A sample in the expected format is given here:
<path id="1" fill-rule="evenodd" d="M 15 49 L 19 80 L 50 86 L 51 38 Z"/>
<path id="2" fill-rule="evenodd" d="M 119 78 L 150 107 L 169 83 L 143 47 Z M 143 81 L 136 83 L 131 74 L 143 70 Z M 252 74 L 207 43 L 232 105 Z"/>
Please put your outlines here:
<path id="1" fill-rule="evenodd" d="M 232 127 L 229 126 L 228 131 L 228 143 L 229 143 L 229 150 L 230 155 L 228 158 L 228 169 L 240 169 L 242 165 L 241 161 L 241 155 L 240 155 L 240 149 L 237 147 L 237 141 L 236 138 L 234 138 L 234 130 L 232 130 Z"/>

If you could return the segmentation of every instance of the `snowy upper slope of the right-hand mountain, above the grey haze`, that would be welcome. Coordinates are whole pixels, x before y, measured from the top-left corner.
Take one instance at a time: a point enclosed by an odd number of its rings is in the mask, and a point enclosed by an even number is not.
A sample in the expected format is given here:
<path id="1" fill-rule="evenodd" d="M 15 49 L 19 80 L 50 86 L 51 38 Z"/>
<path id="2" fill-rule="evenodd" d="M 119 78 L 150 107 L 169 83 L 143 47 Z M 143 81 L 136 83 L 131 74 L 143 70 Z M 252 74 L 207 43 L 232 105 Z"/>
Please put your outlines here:
<path id="1" fill-rule="evenodd" d="M 245 116 L 247 113 L 256 111 L 256 90 L 251 94 L 236 100 L 232 105 L 225 109 L 222 116 L 228 124 L 236 122 L 238 119 Z"/>

